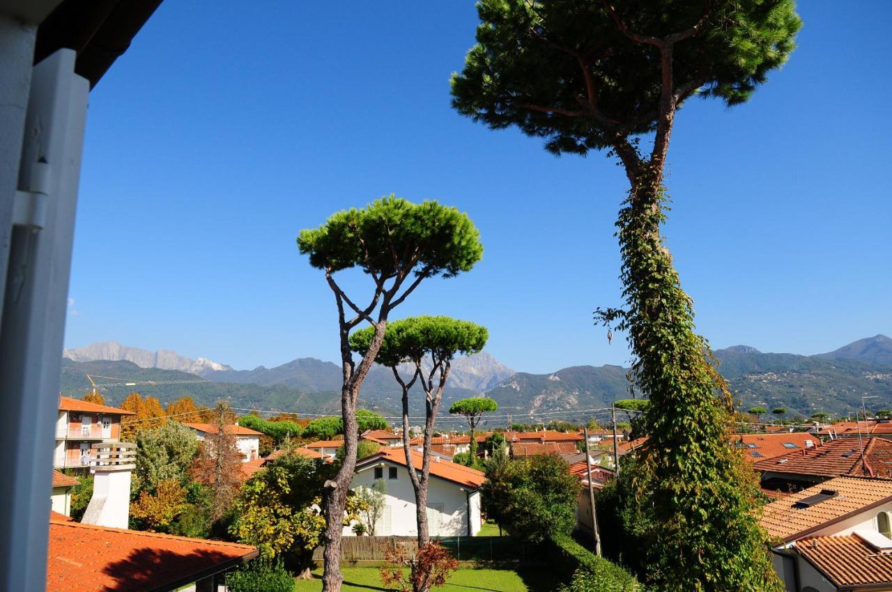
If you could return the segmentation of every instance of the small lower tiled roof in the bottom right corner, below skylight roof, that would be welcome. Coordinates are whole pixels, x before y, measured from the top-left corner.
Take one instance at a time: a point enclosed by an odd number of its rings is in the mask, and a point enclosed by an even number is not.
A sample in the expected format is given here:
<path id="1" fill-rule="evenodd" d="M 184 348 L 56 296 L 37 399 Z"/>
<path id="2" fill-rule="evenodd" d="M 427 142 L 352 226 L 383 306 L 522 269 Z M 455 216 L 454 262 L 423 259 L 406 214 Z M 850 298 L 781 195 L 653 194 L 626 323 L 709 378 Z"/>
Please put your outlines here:
<path id="1" fill-rule="evenodd" d="M 892 554 L 878 552 L 857 533 L 797 540 L 796 550 L 837 588 L 892 585 Z"/>

